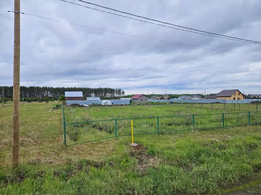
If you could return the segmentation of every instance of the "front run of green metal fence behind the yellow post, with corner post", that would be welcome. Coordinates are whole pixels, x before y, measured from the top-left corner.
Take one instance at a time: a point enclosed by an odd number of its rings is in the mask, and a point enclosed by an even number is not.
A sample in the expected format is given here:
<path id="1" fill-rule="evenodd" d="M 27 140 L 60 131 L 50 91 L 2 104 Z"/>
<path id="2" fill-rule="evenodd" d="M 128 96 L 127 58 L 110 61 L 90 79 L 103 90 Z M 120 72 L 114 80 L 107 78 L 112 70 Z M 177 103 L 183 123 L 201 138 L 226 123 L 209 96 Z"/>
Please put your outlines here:
<path id="1" fill-rule="evenodd" d="M 64 145 L 84 144 L 104 139 L 131 136 L 131 121 L 133 121 L 133 135 L 224 129 L 261 124 L 260 111 L 122 118 L 67 123 L 64 107 L 62 106 L 62 115 Z M 80 140 L 78 140 L 79 135 L 82 135 Z M 70 138 L 69 143 L 67 142 L 67 136 Z"/>

